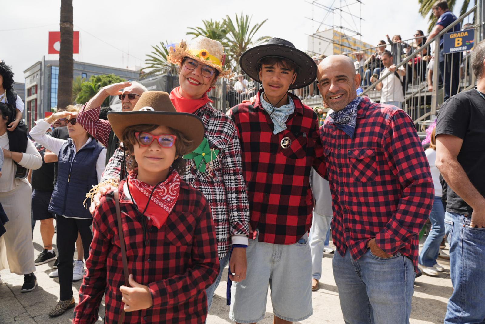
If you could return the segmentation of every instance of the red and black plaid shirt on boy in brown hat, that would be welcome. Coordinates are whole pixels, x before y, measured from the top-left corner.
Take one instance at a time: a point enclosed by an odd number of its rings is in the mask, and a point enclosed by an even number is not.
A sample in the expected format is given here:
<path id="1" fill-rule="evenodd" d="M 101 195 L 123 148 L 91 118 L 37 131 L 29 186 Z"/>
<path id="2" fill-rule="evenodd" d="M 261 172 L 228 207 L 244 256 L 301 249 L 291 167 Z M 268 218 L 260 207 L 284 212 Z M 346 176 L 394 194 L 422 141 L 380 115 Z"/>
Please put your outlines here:
<path id="1" fill-rule="evenodd" d="M 205 289 L 219 273 L 214 224 L 204 195 L 182 180 L 165 224 L 158 229 L 146 218 L 144 238 L 141 217 L 146 216 L 125 194 L 125 183 L 120 183 L 119 194 L 128 268 L 136 282 L 148 286 L 153 299 L 151 308 L 127 312 L 125 323 L 204 323 Z M 104 293 L 105 323 L 118 323 L 124 305 L 119 287 L 125 279 L 117 224 L 113 193 L 109 193 L 93 219 L 93 242 L 73 324 L 95 323 Z"/>

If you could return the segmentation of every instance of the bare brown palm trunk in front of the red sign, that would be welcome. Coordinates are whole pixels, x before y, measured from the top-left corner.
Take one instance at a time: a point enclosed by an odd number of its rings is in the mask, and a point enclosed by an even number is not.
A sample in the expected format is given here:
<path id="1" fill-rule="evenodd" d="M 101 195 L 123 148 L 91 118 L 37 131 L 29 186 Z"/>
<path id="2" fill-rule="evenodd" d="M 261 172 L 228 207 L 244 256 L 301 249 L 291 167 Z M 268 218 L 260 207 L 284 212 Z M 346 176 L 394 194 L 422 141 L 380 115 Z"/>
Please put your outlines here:
<path id="1" fill-rule="evenodd" d="M 72 79 L 74 59 L 72 58 L 72 0 L 61 0 L 61 49 L 59 50 L 59 87 L 57 108 L 72 104 Z"/>

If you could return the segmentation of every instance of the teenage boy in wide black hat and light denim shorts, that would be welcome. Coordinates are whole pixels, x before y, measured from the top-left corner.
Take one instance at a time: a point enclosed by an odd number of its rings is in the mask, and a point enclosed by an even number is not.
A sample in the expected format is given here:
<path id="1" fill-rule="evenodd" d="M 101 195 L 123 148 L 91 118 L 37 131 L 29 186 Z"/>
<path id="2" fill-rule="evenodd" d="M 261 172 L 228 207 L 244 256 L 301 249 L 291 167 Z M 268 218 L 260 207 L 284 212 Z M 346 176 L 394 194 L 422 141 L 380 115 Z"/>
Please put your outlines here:
<path id="1" fill-rule="evenodd" d="M 240 65 L 263 89 L 254 104 L 239 104 L 230 114 L 241 141 L 254 232 L 246 279 L 231 288 L 229 317 L 237 323 L 263 319 L 271 281 L 275 323 L 302 321 L 313 313 L 309 176 L 312 166 L 324 172 L 323 148 L 316 114 L 288 90 L 311 84 L 317 69 L 311 57 L 280 38 L 248 49 Z"/>

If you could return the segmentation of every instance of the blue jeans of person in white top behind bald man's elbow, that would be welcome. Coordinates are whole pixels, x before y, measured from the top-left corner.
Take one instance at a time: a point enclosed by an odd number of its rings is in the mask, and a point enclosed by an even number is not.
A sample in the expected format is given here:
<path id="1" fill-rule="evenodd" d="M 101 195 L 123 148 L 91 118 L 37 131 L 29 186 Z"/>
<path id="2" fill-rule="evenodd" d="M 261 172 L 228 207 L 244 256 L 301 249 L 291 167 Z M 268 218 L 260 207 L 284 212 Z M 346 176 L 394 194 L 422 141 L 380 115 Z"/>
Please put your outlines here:
<path id="1" fill-rule="evenodd" d="M 432 267 L 437 263 L 439 245 L 445 236 L 445 209 L 441 197 L 435 196 L 429 220 L 431 221 L 431 231 L 424 242 L 418 262 L 424 266 Z"/>

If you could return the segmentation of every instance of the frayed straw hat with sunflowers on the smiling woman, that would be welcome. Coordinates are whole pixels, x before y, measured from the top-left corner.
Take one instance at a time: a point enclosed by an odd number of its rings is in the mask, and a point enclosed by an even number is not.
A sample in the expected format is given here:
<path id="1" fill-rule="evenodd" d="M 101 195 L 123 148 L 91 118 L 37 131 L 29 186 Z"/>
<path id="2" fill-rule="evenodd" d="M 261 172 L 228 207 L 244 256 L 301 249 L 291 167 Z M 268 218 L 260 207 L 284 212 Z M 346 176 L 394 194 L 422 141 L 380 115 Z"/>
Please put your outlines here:
<path id="1" fill-rule="evenodd" d="M 231 79 L 234 76 L 230 68 L 224 69 L 226 53 L 224 53 L 224 48 L 219 41 L 205 36 L 197 36 L 190 45 L 187 45 L 183 40 L 178 44 L 170 44 L 167 56 L 169 63 L 180 65 L 185 57 L 190 57 L 201 64 L 215 68 L 219 71 L 220 77 Z"/>

